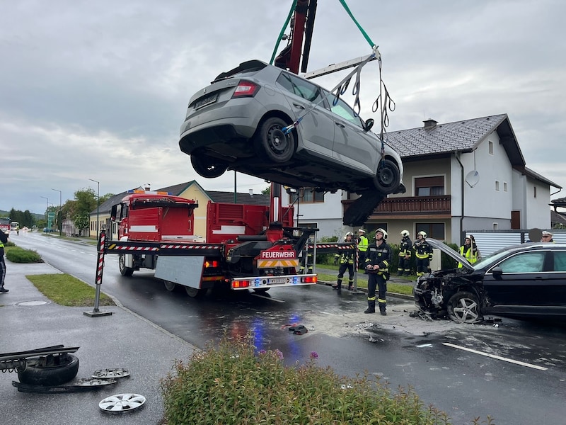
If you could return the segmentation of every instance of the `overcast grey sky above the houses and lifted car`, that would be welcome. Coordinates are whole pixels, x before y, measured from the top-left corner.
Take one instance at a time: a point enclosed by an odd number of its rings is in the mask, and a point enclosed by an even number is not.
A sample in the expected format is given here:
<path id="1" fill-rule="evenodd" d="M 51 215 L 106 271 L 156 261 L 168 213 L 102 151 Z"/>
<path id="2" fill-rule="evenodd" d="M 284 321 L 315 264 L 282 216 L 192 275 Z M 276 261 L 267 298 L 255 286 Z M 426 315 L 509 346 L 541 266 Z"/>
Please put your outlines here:
<path id="1" fill-rule="evenodd" d="M 193 179 L 233 191 L 233 171 L 203 179 L 180 152 L 187 102 L 240 62 L 269 62 L 291 4 L 0 0 L 0 209 L 43 213 L 42 196 L 59 205 L 52 189 L 64 203 L 96 191 L 89 179 L 100 195 Z M 566 187 L 566 1 L 347 4 L 379 45 L 397 104 L 388 130 L 507 113 L 526 166 Z M 309 71 L 370 52 L 340 1 L 318 1 Z M 378 76 L 377 62 L 362 71 L 361 115 L 379 121 Z M 267 187 L 236 181 L 241 192 Z"/>

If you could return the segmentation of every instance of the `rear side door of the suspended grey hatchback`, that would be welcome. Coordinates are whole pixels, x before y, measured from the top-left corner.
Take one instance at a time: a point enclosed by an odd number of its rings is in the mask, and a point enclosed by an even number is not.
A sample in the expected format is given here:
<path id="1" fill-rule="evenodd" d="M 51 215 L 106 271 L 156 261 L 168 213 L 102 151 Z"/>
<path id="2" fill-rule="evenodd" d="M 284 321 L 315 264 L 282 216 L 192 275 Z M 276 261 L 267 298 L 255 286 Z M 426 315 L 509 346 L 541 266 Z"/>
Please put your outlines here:
<path id="1" fill-rule="evenodd" d="M 297 132 L 301 135 L 297 153 L 301 154 L 301 150 L 306 149 L 308 154 L 325 157 L 330 161 L 334 143 L 334 123 L 325 111 L 322 89 L 289 72 L 279 74 L 277 84 L 282 89 L 289 107 L 296 114 L 295 118 L 302 117 L 297 126 Z"/>

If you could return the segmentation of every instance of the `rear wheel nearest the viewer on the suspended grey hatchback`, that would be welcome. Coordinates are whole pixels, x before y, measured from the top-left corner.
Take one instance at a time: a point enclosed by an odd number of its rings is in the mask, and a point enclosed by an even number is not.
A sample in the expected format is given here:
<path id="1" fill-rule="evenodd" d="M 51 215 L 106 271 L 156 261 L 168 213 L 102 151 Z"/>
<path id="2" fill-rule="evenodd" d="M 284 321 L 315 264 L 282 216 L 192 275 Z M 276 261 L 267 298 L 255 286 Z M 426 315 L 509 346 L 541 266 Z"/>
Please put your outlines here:
<path id="1" fill-rule="evenodd" d="M 287 124 L 281 118 L 272 117 L 263 121 L 255 132 L 255 145 L 271 162 L 289 162 L 295 153 L 294 132 L 287 135 L 282 128 Z"/>

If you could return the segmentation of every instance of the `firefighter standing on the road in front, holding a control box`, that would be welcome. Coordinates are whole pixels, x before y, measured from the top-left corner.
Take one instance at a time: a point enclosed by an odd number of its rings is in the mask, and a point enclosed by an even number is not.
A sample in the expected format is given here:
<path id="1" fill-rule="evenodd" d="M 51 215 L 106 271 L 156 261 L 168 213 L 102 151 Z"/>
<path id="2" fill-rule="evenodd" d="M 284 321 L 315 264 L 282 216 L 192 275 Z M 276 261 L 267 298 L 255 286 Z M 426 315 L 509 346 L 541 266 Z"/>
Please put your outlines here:
<path id="1" fill-rule="evenodd" d="M 376 312 L 376 288 L 378 289 L 377 302 L 379 312 L 386 316 L 386 291 L 389 278 L 389 261 L 391 261 L 391 247 L 386 242 L 387 232 L 381 227 L 376 230 L 376 240 L 367 249 L 365 268 L 368 273 L 367 280 L 367 310 L 364 313 Z"/>

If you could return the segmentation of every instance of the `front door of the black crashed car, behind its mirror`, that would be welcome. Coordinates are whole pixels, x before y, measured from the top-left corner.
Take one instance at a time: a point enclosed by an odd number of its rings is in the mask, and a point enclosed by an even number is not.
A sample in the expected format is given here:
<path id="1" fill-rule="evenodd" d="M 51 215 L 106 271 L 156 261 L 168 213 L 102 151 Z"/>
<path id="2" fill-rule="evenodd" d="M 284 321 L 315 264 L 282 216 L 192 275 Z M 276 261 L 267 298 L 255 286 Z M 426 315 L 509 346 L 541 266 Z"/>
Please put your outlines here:
<path id="1" fill-rule="evenodd" d="M 493 314 L 536 314 L 547 296 L 550 273 L 545 270 L 547 251 L 512 254 L 487 270 L 483 278 L 486 311 Z"/>

